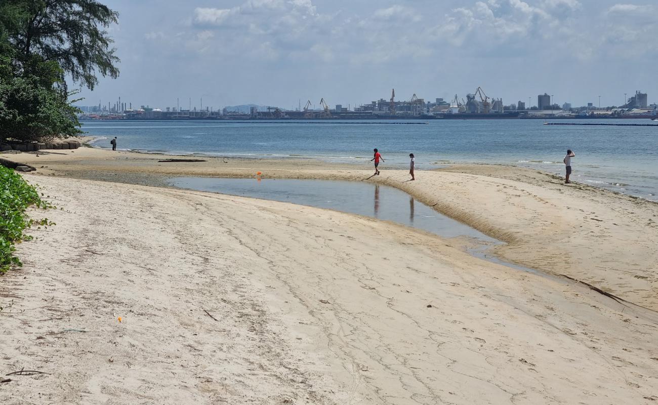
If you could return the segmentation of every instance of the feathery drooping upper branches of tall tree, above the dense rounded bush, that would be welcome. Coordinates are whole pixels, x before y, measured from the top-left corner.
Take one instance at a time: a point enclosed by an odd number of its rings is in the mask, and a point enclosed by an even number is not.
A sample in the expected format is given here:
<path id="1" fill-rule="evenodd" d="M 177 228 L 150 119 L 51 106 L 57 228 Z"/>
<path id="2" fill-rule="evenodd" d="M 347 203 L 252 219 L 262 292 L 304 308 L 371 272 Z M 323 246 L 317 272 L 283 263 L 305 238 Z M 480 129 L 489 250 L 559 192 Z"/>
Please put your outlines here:
<path id="1" fill-rule="evenodd" d="M 0 0 L 0 42 L 28 63 L 38 55 L 93 90 L 96 74 L 116 78 L 118 57 L 104 28 L 118 13 L 95 0 Z M 3 34 L 4 32 L 4 34 Z M 1 51 L 0 45 L 0 51 Z M 65 82 L 62 82 L 65 86 Z"/>

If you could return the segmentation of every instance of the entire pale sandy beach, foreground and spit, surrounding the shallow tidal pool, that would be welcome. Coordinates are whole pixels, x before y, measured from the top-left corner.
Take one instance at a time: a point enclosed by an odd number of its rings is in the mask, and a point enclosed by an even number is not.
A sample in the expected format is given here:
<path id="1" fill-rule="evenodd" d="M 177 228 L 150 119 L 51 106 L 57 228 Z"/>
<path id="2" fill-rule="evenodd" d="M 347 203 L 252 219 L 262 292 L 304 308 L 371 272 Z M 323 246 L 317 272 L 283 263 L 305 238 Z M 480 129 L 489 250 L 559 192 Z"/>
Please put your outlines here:
<path id="1" fill-rule="evenodd" d="M 12 376 L 3 403 L 658 400 L 655 203 L 493 165 L 404 182 L 310 159 L 4 157 L 58 209 L 32 212 L 57 225 L 0 278 L 3 374 L 49 373 Z M 395 186 L 540 273 L 357 215 L 155 187 L 256 171 Z"/>

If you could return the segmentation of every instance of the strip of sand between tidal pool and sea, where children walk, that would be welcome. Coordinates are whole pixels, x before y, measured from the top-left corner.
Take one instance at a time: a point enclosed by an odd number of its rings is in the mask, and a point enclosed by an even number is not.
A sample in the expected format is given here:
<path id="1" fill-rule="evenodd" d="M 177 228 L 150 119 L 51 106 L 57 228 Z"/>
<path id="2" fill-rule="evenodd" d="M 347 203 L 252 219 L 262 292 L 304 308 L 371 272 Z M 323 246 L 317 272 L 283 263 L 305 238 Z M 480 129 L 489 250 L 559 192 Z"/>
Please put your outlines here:
<path id="1" fill-rule="evenodd" d="M 511 166 L 460 165 L 418 171 L 340 165 L 315 159 L 226 159 L 161 163 L 166 155 L 107 149 L 9 155 L 36 173 L 166 185 L 170 176 L 318 178 L 369 181 L 399 188 L 430 207 L 507 244 L 497 256 L 592 284 L 658 310 L 658 203 Z M 174 157 L 184 158 L 184 157 Z M 194 157 L 199 159 L 199 157 Z"/>

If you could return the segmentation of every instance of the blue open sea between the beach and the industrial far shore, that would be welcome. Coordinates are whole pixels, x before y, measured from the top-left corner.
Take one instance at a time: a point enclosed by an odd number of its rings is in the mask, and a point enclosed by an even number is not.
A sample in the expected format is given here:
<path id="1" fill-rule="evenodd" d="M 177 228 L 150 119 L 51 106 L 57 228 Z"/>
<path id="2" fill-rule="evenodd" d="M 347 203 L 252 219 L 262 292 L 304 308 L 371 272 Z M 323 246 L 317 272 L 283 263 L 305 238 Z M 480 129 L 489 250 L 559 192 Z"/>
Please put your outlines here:
<path id="1" fill-rule="evenodd" d="M 551 122 L 597 122 L 560 120 Z M 649 119 L 601 120 L 651 124 Z M 430 121 L 85 121 L 94 146 L 225 157 L 315 158 L 368 163 L 378 148 L 386 167 L 418 170 L 448 163 L 501 163 L 563 175 L 567 149 L 572 180 L 658 200 L 658 124 L 561 126 L 541 120 Z"/>

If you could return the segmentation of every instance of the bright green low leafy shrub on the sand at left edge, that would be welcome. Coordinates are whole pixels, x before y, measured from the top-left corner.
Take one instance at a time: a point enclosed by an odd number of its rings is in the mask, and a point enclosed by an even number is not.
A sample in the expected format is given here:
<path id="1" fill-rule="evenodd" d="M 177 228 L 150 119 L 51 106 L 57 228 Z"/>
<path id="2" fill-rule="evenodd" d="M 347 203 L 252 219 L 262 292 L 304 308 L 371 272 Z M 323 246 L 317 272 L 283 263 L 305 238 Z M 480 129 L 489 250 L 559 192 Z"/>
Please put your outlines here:
<path id="1" fill-rule="evenodd" d="M 32 225 L 32 220 L 25 215 L 30 205 L 48 207 L 41 201 L 34 186 L 23 180 L 22 176 L 13 169 L 0 167 L 0 273 L 13 266 L 22 266 L 18 257 L 14 256 L 14 244 L 28 239 L 23 230 Z"/>

